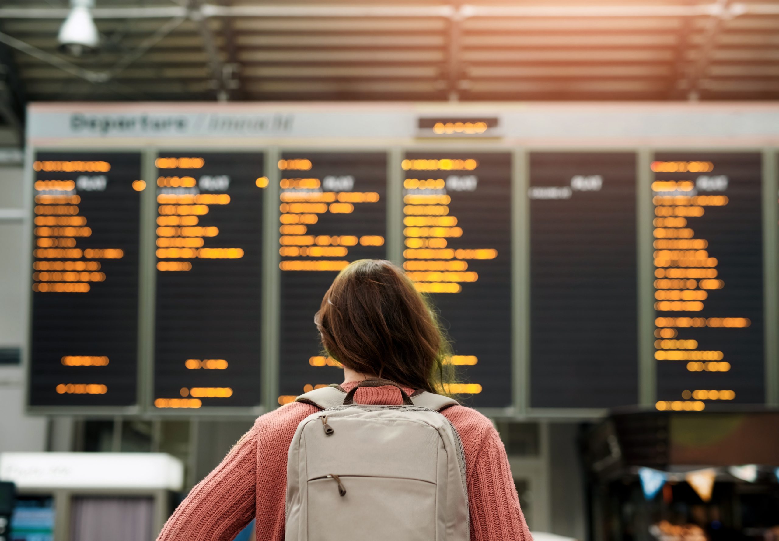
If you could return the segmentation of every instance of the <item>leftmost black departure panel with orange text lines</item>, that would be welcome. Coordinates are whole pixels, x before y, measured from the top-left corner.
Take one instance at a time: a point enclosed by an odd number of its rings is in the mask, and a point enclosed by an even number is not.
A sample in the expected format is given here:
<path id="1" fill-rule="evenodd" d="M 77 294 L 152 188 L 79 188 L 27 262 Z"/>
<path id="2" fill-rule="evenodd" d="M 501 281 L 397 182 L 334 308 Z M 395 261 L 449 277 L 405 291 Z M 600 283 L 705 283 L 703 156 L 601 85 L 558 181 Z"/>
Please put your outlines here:
<path id="1" fill-rule="evenodd" d="M 136 403 L 139 153 L 33 163 L 30 406 Z"/>

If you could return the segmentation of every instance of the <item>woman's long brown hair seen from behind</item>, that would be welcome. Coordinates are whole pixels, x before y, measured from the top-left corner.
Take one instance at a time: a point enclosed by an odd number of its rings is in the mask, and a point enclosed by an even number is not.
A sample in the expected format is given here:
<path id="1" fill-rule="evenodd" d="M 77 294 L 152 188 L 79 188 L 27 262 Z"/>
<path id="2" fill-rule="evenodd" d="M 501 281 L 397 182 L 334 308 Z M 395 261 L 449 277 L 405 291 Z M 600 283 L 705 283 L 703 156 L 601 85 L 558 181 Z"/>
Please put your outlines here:
<path id="1" fill-rule="evenodd" d="M 411 279 L 391 262 L 343 269 L 314 318 L 326 353 L 361 374 L 429 392 L 452 381 L 449 342 Z"/>

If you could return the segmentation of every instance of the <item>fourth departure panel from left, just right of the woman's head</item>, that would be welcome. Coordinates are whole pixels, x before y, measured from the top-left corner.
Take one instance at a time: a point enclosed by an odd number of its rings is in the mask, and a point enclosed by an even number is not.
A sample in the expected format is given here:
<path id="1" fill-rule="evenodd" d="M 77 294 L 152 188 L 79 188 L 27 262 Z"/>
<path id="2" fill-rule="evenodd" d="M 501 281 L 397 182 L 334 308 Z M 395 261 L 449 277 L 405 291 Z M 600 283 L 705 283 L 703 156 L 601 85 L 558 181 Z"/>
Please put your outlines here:
<path id="1" fill-rule="evenodd" d="M 449 391 L 512 405 L 511 154 L 407 153 L 404 269 L 453 343 Z"/>

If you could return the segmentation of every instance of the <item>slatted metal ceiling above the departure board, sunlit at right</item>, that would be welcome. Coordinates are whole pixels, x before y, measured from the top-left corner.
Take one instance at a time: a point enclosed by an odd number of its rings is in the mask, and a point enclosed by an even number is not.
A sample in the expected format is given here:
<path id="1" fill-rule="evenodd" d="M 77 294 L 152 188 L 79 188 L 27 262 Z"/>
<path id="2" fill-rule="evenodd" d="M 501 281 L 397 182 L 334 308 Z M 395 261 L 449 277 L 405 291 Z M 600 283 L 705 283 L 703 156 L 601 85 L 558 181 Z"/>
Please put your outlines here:
<path id="1" fill-rule="evenodd" d="M 775 100 L 779 0 L 97 0 L 97 56 L 56 51 L 65 0 L 0 2 L 0 99 Z"/>

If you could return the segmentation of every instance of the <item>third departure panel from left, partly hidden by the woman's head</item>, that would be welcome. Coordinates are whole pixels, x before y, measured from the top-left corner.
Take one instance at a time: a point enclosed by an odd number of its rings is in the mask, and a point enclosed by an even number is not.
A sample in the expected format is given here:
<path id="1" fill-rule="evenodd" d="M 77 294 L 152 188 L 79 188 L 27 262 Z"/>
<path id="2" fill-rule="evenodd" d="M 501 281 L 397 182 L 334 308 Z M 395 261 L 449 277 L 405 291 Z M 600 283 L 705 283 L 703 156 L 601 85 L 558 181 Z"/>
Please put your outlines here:
<path id="1" fill-rule="evenodd" d="M 280 396 L 284 404 L 343 373 L 314 314 L 349 262 L 386 258 L 386 153 L 283 153 L 279 254 Z"/>

